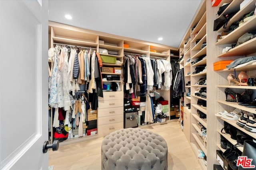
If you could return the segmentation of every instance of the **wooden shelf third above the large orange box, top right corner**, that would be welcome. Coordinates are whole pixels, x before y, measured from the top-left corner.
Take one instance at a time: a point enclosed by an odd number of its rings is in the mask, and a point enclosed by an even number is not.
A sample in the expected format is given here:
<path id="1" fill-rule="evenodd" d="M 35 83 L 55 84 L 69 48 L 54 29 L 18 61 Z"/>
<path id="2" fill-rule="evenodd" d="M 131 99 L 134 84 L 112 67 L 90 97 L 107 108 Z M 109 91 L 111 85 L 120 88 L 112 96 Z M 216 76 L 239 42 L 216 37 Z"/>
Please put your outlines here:
<path id="1" fill-rule="evenodd" d="M 227 7 L 228 8 L 228 7 Z M 230 25 L 243 17 L 244 14 L 251 12 L 255 9 L 255 0 L 251 0 L 242 9 L 240 9 L 227 23 L 226 28 L 221 27 L 218 32 L 228 31 Z"/>

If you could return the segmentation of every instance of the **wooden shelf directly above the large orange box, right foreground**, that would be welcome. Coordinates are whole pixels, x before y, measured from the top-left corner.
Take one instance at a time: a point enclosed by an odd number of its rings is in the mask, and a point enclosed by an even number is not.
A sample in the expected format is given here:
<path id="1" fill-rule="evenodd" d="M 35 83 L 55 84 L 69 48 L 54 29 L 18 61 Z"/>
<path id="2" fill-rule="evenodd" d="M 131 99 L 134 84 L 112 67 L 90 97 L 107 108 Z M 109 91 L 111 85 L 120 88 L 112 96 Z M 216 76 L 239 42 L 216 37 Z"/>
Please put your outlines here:
<path id="1" fill-rule="evenodd" d="M 256 44 L 256 37 L 238 45 L 230 49 L 227 53 L 222 53 L 218 55 L 218 57 L 232 57 L 232 56 L 241 56 L 241 55 L 248 55 L 256 52 L 255 48 Z"/>

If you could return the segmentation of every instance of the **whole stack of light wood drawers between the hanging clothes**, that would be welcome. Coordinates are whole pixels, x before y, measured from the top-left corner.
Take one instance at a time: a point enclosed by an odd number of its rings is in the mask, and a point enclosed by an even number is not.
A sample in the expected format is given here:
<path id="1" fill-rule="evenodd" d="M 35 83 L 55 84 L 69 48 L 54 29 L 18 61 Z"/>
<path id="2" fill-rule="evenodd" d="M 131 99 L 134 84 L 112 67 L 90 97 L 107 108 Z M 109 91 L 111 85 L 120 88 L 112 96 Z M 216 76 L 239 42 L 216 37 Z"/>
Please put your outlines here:
<path id="1" fill-rule="evenodd" d="M 123 92 L 103 92 L 103 96 L 98 98 L 98 135 L 124 128 Z"/>

